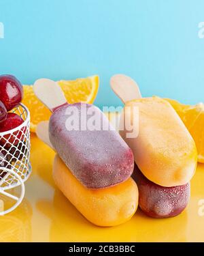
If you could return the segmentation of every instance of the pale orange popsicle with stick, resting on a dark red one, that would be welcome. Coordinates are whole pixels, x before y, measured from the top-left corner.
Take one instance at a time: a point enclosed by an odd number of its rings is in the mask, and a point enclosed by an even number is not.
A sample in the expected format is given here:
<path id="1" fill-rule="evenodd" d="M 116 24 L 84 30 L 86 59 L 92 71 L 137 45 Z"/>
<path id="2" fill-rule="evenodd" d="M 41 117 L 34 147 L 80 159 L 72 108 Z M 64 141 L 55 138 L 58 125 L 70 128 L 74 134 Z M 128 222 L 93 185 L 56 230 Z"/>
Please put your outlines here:
<path id="1" fill-rule="evenodd" d="M 143 175 L 160 186 L 188 183 L 197 167 L 197 149 L 171 104 L 158 97 L 141 98 L 137 83 L 128 76 L 115 75 L 110 83 L 125 103 L 120 135 L 133 150 Z M 134 115 L 139 115 L 139 122 L 133 124 L 139 126 L 139 133 L 131 138 L 125 122 Z"/>

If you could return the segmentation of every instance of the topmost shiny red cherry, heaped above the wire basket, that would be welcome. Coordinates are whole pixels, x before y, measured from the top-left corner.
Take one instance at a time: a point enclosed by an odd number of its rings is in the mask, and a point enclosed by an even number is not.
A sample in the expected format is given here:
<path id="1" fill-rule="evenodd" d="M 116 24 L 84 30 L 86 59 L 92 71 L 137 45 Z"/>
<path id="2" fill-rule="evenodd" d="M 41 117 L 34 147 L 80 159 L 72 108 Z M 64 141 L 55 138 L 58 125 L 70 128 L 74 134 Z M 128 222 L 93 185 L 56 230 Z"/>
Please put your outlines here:
<path id="1" fill-rule="evenodd" d="M 0 76 L 0 100 L 7 111 L 14 109 L 22 100 L 23 88 L 15 76 L 3 74 Z"/>

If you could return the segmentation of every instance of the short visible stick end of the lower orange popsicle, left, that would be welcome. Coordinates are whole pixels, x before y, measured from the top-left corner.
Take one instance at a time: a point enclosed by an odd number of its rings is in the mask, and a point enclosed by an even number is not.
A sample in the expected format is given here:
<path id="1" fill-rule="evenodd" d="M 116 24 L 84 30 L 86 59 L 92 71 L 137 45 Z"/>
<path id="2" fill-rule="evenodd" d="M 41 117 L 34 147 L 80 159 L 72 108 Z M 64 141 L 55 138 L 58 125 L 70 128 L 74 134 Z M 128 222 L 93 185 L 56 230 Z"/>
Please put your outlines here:
<path id="1" fill-rule="evenodd" d="M 41 141 L 46 143 L 49 147 L 52 148 L 52 150 L 54 150 L 54 147 L 52 146 L 52 143 L 50 142 L 50 138 L 49 138 L 49 122 L 48 121 L 43 121 L 37 124 L 36 134 Z"/>

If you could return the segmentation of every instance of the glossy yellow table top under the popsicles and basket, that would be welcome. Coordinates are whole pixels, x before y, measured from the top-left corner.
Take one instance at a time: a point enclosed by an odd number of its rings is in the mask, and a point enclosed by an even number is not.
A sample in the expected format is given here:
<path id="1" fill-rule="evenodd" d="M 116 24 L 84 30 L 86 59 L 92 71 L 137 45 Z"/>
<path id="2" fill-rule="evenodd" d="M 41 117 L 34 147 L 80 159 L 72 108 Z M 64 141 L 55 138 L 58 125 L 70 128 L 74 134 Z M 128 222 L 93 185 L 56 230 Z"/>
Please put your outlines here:
<path id="1" fill-rule="evenodd" d="M 21 205 L 0 217 L 1 242 L 204 242 L 204 209 L 199 214 L 199 201 L 204 199 L 204 165 L 197 168 L 190 204 L 179 216 L 154 219 L 138 209 L 123 225 L 96 227 L 54 185 L 53 158 L 54 152 L 32 134 L 33 172 L 25 183 Z"/>

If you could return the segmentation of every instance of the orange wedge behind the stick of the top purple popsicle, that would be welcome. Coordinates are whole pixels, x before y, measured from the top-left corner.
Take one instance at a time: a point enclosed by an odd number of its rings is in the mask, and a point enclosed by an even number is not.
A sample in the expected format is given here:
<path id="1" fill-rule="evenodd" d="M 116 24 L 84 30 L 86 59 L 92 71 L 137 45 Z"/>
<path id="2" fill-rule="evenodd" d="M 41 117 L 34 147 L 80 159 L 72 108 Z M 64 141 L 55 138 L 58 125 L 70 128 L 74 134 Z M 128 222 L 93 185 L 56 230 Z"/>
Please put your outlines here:
<path id="1" fill-rule="evenodd" d="M 58 81 L 67 98 L 67 102 L 85 102 L 92 104 L 97 96 L 99 89 L 99 76 L 89 76 L 85 79 L 76 79 L 74 81 Z M 33 92 L 32 85 L 23 85 L 25 104 L 31 113 L 31 132 L 35 132 L 37 124 L 41 121 L 50 119 L 49 109 L 42 104 Z"/>

